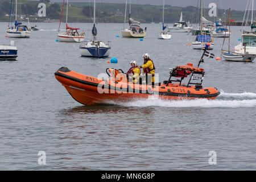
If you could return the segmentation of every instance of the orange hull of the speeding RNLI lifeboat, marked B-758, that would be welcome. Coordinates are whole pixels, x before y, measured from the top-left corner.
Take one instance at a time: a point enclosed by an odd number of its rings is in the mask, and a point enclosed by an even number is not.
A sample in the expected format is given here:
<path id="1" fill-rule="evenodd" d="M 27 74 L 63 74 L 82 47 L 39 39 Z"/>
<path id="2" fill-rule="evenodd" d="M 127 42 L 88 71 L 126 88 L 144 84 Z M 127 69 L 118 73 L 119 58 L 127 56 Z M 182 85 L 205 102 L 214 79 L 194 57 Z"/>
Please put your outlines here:
<path id="1" fill-rule="evenodd" d="M 163 100 L 214 99 L 220 94 L 215 88 L 195 89 L 195 86 L 188 88 L 160 84 L 152 87 L 151 85 L 127 84 L 127 82 L 122 85 L 121 82 L 82 75 L 65 67 L 56 71 L 55 77 L 77 102 L 84 105 L 102 104 L 108 101 L 131 101 L 138 98 L 146 99 L 150 96 L 157 96 Z"/>

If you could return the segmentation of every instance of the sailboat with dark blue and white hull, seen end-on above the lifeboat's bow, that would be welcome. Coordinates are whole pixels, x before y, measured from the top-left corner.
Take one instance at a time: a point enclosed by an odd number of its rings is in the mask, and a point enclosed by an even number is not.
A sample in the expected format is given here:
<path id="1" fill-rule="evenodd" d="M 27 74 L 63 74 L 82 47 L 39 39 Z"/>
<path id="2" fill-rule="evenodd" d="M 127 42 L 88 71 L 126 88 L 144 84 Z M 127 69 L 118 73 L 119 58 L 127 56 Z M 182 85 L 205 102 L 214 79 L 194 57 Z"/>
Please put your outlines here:
<path id="1" fill-rule="evenodd" d="M 95 16 L 96 16 L 96 0 L 94 0 L 94 11 L 93 11 L 93 28 L 92 28 L 93 40 L 86 42 L 84 46 L 80 46 L 79 50 L 80 50 L 81 56 L 85 56 L 85 57 L 108 57 L 110 54 L 110 48 L 111 48 L 109 43 L 106 44 L 103 41 L 96 39 L 97 29 L 95 26 L 96 24 Z"/>

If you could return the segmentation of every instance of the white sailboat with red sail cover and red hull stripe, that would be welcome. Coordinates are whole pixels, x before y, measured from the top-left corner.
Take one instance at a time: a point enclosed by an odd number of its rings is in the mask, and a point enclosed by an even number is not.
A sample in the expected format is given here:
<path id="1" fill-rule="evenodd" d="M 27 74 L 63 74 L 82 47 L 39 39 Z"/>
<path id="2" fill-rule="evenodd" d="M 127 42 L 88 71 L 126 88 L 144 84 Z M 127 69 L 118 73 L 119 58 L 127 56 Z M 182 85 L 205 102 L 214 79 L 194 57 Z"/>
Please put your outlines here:
<path id="1" fill-rule="evenodd" d="M 64 5 L 63 0 L 63 5 Z M 62 18 L 62 11 L 61 11 L 61 17 L 60 17 L 60 23 Z M 81 35 L 77 30 L 80 30 L 80 28 L 72 28 L 68 26 L 68 0 L 67 0 L 67 12 L 66 12 L 66 31 L 60 33 L 60 26 L 57 34 L 57 38 L 60 42 L 82 42 L 84 40 L 85 32 L 82 32 Z"/>

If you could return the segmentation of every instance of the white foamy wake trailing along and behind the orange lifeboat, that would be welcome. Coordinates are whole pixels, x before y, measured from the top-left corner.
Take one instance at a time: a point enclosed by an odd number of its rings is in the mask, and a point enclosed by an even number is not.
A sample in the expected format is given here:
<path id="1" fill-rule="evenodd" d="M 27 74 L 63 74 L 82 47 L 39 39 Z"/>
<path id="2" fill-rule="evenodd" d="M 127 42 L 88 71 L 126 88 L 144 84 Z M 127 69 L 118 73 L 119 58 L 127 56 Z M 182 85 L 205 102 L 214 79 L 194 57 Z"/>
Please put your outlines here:
<path id="1" fill-rule="evenodd" d="M 161 100 L 157 96 L 151 96 L 147 100 L 137 99 L 129 102 L 106 101 L 105 103 L 126 107 L 256 107 L 256 93 L 225 93 L 221 91 L 220 96 L 216 100 Z"/>

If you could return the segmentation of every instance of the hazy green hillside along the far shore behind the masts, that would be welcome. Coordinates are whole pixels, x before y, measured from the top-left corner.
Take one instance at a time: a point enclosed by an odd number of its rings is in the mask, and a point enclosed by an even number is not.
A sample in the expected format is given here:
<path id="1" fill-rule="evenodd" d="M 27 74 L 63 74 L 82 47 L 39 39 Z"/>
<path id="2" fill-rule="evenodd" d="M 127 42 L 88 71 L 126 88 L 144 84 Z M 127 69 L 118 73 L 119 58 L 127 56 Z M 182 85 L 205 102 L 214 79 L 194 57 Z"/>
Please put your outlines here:
<path id="1" fill-rule="evenodd" d="M 28 1 L 22 0 L 22 5 L 18 5 L 18 14 L 35 15 L 38 12 L 38 4 L 40 2 L 46 3 L 46 18 L 59 19 L 61 13 L 62 3 L 48 3 L 49 0 Z M 93 3 L 69 3 L 68 20 L 75 22 L 92 22 L 93 18 Z M 162 22 L 162 5 L 131 5 L 131 16 L 135 20 L 142 23 Z M 21 8 L 20 8 L 21 6 Z M 196 6 L 196 5 L 195 5 Z M 64 12 L 65 12 L 64 6 Z M 21 10 L 21 12 L 20 12 Z M 122 23 L 125 14 L 125 3 L 96 3 L 96 18 L 98 22 L 116 22 Z M 199 9 L 194 6 L 175 7 L 166 5 L 164 9 L 164 22 L 174 23 L 179 21 L 180 13 L 183 13 L 183 20 L 191 23 L 199 22 Z M 208 20 L 214 21 L 216 18 L 208 16 L 209 9 L 204 9 L 204 16 Z M 224 17 L 225 12 L 225 17 Z M 6 20 L 5 14 L 10 13 L 10 0 L 0 1 L 0 20 Z M 127 5 L 127 16 L 129 14 L 129 5 Z M 244 11 L 231 11 L 231 18 L 235 21 L 242 21 Z M 228 10 L 218 10 L 218 18 L 222 20 L 228 19 Z M 38 18 L 39 19 L 39 18 Z M 43 20 L 42 18 L 40 18 Z"/>

